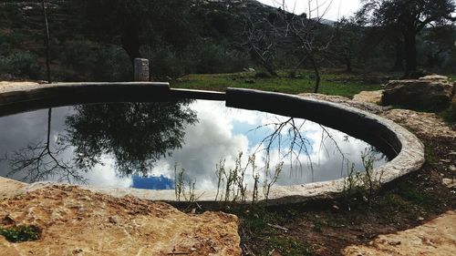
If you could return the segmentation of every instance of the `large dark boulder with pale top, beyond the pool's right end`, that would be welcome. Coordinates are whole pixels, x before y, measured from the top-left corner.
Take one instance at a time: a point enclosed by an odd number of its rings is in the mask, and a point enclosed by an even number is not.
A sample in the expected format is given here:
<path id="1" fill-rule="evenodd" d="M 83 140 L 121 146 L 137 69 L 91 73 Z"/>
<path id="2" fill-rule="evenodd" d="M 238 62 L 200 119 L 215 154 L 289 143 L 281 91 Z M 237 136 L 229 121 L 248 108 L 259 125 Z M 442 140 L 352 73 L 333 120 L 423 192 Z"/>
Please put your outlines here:
<path id="1" fill-rule="evenodd" d="M 383 105 L 408 108 L 447 108 L 454 95 L 454 85 L 448 77 L 432 75 L 420 79 L 392 80 L 382 96 Z"/>

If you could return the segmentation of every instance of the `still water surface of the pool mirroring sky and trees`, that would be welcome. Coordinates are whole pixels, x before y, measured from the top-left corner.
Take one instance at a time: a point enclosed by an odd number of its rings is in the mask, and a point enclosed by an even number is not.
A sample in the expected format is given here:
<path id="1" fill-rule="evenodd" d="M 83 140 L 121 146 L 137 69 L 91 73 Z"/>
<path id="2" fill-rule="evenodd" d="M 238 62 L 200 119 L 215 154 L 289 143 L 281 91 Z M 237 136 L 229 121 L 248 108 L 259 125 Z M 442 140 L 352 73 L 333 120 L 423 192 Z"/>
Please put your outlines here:
<path id="1" fill-rule="evenodd" d="M 0 175 L 27 182 L 174 189 L 176 169 L 185 169 L 196 189 L 216 189 L 216 169 L 237 161 L 247 186 L 254 174 L 264 179 L 267 166 L 270 174 L 281 169 L 277 185 L 292 185 L 339 179 L 352 165 L 362 170 L 363 155 L 375 167 L 388 160 L 305 119 L 207 100 L 42 109 L 0 118 L 0 128 Z"/>

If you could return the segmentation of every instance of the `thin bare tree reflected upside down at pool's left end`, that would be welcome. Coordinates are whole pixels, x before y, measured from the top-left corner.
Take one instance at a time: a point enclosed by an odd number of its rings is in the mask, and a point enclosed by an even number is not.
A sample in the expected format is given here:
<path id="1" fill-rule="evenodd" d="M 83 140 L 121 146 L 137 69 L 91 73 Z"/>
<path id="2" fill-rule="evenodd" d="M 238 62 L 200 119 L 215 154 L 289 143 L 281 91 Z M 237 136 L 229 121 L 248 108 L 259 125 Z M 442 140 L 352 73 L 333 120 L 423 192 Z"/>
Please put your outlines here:
<path id="1" fill-rule="evenodd" d="M 50 177 L 58 176 L 58 181 L 85 182 L 86 179 L 79 174 L 77 169 L 71 166 L 71 161 L 58 159 L 69 146 L 57 141 L 56 147 L 51 148 L 51 115 L 52 108 L 47 113 L 47 141 L 29 144 L 14 152 L 9 159 L 11 166 L 7 176 L 16 173 L 25 173 L 23 178 L 29 182 L 36 182 Z"/>

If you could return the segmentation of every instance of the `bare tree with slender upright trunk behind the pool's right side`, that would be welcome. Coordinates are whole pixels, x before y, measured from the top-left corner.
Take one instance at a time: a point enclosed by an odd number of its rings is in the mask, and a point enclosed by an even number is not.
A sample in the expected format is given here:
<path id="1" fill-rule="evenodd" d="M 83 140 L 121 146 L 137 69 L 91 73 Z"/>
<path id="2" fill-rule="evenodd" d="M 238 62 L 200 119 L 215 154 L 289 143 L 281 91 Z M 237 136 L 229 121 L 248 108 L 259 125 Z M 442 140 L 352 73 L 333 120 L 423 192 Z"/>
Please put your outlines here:
<path id="1" fill-rule="evenodd" d="M 246 45 L 274 77 L 278 77 L 275 59 L 280 54 L 285 53 L 288 61 L 295 62 L 295 70 L 308 63 L 314 71 L 314 92 L 317 93 L 321 83 L 320 65 L 327 59 L 333 38 L 322 24 L 331 4 L 332 1 L 321 4 L 318 0 L 307 0 L 308 13 L 295 15 L 295 9 L 281 1 L 276 12 L 266 18 L 248 16 L 244 28 Z"/>

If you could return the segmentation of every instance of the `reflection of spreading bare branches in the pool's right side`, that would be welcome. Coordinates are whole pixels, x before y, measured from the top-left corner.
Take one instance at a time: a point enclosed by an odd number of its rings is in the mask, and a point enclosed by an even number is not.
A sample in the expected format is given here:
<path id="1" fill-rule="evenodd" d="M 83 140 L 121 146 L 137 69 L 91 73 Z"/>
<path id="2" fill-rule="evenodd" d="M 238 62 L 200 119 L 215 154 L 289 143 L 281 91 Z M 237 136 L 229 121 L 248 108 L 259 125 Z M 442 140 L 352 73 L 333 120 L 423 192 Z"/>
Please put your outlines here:
<path id="1" fill-rule="evenodd" d="M 303 120 L 300 124 L 295 122 L 295 118 L 288 118 L 285 121 L 280 120 L 280 118 L 276 118 L 275 122 L 267 123 L 261 126 L 254 128 L 253 130 L 258 130 L 260 128 L 273 128 L 273 132 L 263 138 L 258 145 L 258 148 L 255 149 L 254 153 L 258 151 L 264 151 L 264 159 L 265 162 L 269 162 L 271 159 L 271 151 L 275 148 L 274 146 L 277 145 L 277 152 L 279 158 L 286 159 L 289 158 L 290 160 L 290 168 L 293 170 L 294 166 L 298 166 L 299 169 L 302 169 L 303 164 L 301 162 L 300 156 L 304 153 L 307 159 L 307 166 L 311 170 L 312 173 L 312 181 L 314 181 L 314 163 L 311 159 L 311 142 L 305 137 L 302 132 L 303 127 L 306 124 L 306 120 Z M 326 151 L 327 155 L 329 154 L 329 149 L 326 148 L 325 141 L 326 139 L 330 139 L 334 145 L 335 150 L 342 156 L 342 166 L 346 161 L 345 154 L 343 153 L 342 149 L 339 148 L 337 145 L 337 141 L 330 132 L 323 126 L 320 125 L 322 129 L 321 141 L 319 150 L 321 151 L 322 148 Z M 286 137 L 284 138 L 284 134 Z M 287 145 L 287 151 L 283 152 L 282 145 Z M 264 148 L 262 146 L 264 145 Z M 284 153 L 284 154 L 282 154 Z M 318 154 L 319 155 L 319 154 Z M 280 161 L 281 159 L 279 159 Z"/>

